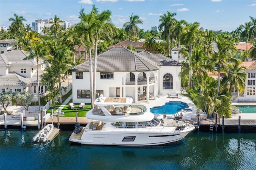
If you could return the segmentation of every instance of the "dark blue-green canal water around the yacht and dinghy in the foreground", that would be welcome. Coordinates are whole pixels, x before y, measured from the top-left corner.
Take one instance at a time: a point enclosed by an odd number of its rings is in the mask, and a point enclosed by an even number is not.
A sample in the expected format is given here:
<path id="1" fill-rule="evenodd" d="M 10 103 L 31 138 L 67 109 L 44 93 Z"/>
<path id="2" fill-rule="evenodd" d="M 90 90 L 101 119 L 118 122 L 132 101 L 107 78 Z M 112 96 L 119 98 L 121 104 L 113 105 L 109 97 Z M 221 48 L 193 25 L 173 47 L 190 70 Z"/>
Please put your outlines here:
<path id="1" fill-rule="evenodd" d="M 0 130 L 0 170 L 255 170 L 256 134 L 191 132 L 169 146 L 71 144 L 60 131 L 45 145 L 36 130 Z"/>

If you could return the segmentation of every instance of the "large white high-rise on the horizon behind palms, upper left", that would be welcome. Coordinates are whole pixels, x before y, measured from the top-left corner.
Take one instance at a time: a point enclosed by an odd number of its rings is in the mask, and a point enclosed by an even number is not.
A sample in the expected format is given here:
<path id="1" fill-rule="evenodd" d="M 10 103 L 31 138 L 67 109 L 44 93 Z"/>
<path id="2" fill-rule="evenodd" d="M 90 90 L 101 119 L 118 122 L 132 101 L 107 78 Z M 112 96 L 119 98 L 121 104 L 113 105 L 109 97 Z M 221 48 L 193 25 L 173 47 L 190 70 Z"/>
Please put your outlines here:
<path id="1" fill-rule="evenodd" d="M 69 22 L 66 22 L 66 20 L 61 20 L 61 21 L 62 22 L 60 22 L 59 24 L 65 30 L 67 30 L 69 27 L 71 27 L 71 24 Z M 54 19 L 53 18 L 50 18 L 49 20 L 48 19 L 46 19 L 46 20 L 39 19 L 39 20 L 35 20 L 35 22 L 32 22 L 32 28 L 33 28 L 33 30 L 35 30 L 39 34 L 44 35 L 44 33 L 42 32 L 44 27 L 46 27 L 48 30 L 50 30 L 51 26 L 53 24 L 54 24 Z"/>

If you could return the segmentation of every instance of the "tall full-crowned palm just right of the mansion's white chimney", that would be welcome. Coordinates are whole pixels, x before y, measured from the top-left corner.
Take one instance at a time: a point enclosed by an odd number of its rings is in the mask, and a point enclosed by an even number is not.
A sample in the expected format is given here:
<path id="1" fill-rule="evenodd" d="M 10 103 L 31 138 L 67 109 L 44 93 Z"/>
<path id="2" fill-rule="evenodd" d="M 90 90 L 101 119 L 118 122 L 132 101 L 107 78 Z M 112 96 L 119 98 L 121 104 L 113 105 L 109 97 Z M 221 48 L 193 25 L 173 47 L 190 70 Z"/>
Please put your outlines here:
<path id="1" fill-rule="evenodd" d="M 188 62 L 191 61 L 191 55 L 192 55 L 192 45 L 194 43 L 200 42 L 204 39 L 203 30 L 202 28 L 198 29 L 200 24 L 198 22 L 194 22 L 193 24 L 187 24 L 187 26 L 184 28 L 184 31 L 180 35 L 180 42 L 183 44 L 189 44 L 189 54 L 190 57 L 188 57 Z M 191 89 L 191 71 L 189 73 L 189 87 Z"/>

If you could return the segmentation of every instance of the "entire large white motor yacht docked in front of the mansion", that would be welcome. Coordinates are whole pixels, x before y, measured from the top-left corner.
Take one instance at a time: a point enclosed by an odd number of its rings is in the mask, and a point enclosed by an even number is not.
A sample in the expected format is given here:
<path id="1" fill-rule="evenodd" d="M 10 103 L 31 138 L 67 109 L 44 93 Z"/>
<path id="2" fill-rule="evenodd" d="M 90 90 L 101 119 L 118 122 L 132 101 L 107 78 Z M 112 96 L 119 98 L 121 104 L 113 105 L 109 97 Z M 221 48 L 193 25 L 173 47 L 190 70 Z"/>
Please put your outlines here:
<path id="1" fill-rule="evenodd" d="M 69 140 L 89 145 L 153 146 L 182 140 L 194 126 L 173 119 L 158 119 L 129 97 L 103 97 L 86 114 L 92 121 L 74 130 Z M 78 128 L 76 128 L 78 129 Z"/>

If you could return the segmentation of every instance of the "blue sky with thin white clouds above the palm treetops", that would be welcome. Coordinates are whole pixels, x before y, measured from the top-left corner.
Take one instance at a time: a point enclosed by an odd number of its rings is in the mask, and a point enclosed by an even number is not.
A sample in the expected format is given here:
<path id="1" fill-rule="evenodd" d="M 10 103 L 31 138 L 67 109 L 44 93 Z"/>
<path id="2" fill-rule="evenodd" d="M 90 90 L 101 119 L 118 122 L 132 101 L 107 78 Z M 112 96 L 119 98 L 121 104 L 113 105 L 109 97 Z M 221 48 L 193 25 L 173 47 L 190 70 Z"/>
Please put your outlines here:
<path id="1" fill-rule="evenodd" d="M 23 16 L 30 24 L 38 19 L 54 18 L 56 15 L 71 24 L 78 23 L 81 8 L 88 13 L 95 5 L 100 11 L 110 10 L 112 22 L 119 28 L 138 15 L 143 24 L 139 28 L 150 30 L 160 24 L 162 14 L 176 12 L 177 20 L 199 22 L 208 30 L 236 30 L 240 24 L 256 17 L 256 0 L 0 0 L 0 26 L 9 26 L 14 14 Z"/>

